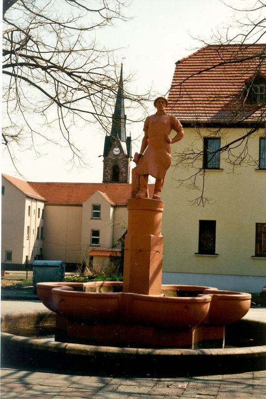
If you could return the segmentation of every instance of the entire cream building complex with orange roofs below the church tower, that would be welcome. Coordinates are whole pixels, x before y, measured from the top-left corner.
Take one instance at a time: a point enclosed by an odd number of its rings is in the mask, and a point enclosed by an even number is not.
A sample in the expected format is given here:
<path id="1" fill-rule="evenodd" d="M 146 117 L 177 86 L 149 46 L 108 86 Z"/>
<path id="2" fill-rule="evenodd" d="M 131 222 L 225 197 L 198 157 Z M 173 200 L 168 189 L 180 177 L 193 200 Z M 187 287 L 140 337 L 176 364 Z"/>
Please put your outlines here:
<path id="1" fill-rule="evenodd" d="M 149 185 L 152 195 L 153 185 Z M 2 175 L 2 259 L 5 270 L 34 259 L 75 268 L 92 251 L 94 262 L 121 256 L 127 229 L 129 183 L 26 182 Z"/>

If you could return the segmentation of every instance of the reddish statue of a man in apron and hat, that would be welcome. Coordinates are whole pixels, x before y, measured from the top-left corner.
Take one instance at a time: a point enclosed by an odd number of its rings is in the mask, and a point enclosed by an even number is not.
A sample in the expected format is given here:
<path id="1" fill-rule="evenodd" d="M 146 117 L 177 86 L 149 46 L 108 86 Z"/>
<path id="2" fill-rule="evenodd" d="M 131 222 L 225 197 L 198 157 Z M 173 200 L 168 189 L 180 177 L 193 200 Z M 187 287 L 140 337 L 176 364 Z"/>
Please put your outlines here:
<path id="1" fill-rule="evenodd" d="M 135 153 L 133 159 L 137 165 L 132 171 L 132 197 L 148 198 L 148 178 L 151 175 L 156 179 L 153 198 L 161 198 L 166 171 L 171 165 L 170 144 L 184 136 L 179 120 L 166 113 L 167 105 L 164 97 L 158 97 L 154 101 L 157 112 L 145 120 L 140 152 Z M 170 137 L 172 129 L 176 131 L 173 139 Z"/>

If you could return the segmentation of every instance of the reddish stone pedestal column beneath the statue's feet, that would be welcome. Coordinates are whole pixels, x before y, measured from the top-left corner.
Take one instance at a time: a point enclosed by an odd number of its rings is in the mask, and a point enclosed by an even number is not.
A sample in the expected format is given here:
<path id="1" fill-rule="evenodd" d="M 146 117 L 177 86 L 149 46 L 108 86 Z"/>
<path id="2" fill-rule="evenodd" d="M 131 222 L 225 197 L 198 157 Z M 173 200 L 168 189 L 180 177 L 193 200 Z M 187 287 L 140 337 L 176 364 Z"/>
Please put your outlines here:
<path id="1" fill-rule="evenodd" d="M 164 202 L 128 200 L 123 292 L 159 295 L 162 291 Z"/>

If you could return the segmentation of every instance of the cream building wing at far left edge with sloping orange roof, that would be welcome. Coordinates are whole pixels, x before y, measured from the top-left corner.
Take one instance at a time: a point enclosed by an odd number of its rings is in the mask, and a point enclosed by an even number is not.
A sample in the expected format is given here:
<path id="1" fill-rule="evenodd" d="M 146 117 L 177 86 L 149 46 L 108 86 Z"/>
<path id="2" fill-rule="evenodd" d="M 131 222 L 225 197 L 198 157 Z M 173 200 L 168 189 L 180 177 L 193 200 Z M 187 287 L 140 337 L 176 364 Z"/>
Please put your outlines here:
<path id="1" fill-rule="evenodd" d="M 44 204 L 27 181 L 2 175 L 2 269 L 26 268 L 42 258 Z"/>

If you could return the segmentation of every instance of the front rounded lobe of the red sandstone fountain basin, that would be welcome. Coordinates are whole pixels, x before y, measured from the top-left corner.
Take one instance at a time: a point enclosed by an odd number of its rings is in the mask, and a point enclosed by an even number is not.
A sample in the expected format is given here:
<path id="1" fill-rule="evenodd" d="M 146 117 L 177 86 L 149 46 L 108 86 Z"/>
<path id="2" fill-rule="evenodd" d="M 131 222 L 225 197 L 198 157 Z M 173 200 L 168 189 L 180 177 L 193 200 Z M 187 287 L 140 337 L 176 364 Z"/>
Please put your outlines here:
<path id="1" fill-rule="evenodd" d="M 167 328 L 196 326 L 207 316 L 210 295 L 192 298 L 124 292 L 76 292 L 70 287 L 52 289 L 57 313 L 87 323 L 118 323 Z"/>

